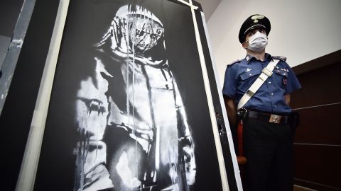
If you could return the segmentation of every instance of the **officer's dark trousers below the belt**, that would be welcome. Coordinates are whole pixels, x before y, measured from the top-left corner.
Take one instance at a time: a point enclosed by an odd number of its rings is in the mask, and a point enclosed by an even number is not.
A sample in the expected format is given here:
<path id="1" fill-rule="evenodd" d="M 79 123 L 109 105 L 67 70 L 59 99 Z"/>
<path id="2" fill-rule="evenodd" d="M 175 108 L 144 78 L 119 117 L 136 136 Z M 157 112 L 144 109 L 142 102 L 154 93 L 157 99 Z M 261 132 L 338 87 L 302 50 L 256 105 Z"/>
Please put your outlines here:
<path id="1" fill-rule="evenodd" d="M 244 120 L 244 190 L 293 190 L 293 135 L 288 124 Z"/>

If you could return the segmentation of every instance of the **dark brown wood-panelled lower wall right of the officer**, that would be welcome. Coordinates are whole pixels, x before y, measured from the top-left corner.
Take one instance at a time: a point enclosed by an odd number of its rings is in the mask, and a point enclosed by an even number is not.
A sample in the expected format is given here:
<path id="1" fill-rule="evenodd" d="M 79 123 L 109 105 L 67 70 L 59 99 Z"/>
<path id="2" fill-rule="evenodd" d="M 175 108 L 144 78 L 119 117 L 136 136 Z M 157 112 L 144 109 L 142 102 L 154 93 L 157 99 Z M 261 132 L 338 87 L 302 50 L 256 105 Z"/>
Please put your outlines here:
<path id="1" fill-rule="evenodd" d="M 301 115 L 294 142 L 295 184 L 341 190 L 341 89 L 337 88 L 341 50 L 293 70 L 303 86 L 291 95 L 291 107 Z"/>

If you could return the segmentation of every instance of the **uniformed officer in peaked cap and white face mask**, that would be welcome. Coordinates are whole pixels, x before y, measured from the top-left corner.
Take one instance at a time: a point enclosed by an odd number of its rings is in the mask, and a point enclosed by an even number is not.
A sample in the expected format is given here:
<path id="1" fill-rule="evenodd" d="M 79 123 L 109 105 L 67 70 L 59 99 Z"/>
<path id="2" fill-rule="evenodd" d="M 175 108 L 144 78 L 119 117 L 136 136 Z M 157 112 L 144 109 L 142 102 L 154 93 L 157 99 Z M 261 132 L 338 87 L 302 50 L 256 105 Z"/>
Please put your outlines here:
<path id="1" fill-rule="evenodd" d="M 263 15 L 252 15 L 242 24 L 239 42 L 244 59 L 229 64 L 224 76 L 224 103 L 232 133 L 237 128 L 237 105 L 263 69 L 276 59 L 273 74 L 242 106 L 244 190 L 293 190 L 293 134 L 290 93 L 301 88 L 285 57 L 265 53 L 271 24 Z M 243 112 L 244 111 L 244 112 Z M 247 112 L 245 112 L 247 111 Z"/>

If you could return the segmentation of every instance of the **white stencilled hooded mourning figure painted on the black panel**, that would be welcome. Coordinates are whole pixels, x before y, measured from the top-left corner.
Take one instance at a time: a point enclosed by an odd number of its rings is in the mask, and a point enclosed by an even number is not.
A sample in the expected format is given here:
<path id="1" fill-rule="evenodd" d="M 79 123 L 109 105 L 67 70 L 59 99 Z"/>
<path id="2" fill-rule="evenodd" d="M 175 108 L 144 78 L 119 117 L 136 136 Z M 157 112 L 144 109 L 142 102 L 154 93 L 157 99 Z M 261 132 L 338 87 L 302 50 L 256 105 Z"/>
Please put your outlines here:
<path id="1" fill-rule="evenodd" d="M 74 190 L 191 190 L 194 143 L 161 21 L 122 6 L 80 82 Z"/>

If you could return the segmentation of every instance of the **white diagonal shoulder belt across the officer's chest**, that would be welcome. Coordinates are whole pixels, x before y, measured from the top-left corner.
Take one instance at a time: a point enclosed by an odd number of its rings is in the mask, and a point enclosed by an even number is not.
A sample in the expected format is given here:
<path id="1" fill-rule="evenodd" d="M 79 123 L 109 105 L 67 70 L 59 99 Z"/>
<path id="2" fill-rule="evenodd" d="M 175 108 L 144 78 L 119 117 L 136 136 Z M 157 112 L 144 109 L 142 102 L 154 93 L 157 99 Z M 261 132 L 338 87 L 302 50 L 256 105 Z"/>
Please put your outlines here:
<path id="1" fill-rule="evenodd" d="M 258 91 L 258 89 L 261 87 L 261 85 L 272 75 L 272 71 L 274 70 L 276 64 L 279 62 L 279 59 L 276 59 L 275 61 L 271 61 L 266 68 L 264 68 L 261 71 L 261 75 L 258 76 L 258 79 L 254 81 L 254 83 L 251 85 L 249 90 L 244 94 L 244 96 L 240 99 L 238 103 L 237 110 L 242 108 L 252 96 L 254 96 L 254 93 Z"/>

